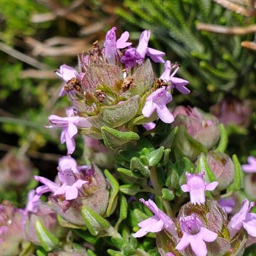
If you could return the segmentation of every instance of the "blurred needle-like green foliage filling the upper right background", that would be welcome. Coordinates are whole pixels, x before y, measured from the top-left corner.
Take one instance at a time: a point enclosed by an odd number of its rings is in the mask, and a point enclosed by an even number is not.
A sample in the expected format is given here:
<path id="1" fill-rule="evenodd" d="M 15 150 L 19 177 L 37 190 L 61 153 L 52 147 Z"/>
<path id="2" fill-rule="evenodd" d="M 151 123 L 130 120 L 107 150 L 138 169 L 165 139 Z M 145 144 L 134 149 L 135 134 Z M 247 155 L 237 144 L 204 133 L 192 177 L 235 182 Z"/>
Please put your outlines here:
<path id="1" fill-rule="evenodd" d="M 125 0 L 124 6 L 116 12 L 133 26 L 151 29 L 154 44 L 167 59 L 181 64 L 179 75 L 192 90 L 186 99 L 193 105 L 207 109 L 228 92 L 241 99 L 255 97 L 256 55 L 240 45 L 243 40 L 253 41 L 254 35 L 216 35 L 196 29 L 198 22 L 248 26 L 255 18 L 230 12 L 212 0 Z M 183 96 L 176 101 L 183 102 Z"/>

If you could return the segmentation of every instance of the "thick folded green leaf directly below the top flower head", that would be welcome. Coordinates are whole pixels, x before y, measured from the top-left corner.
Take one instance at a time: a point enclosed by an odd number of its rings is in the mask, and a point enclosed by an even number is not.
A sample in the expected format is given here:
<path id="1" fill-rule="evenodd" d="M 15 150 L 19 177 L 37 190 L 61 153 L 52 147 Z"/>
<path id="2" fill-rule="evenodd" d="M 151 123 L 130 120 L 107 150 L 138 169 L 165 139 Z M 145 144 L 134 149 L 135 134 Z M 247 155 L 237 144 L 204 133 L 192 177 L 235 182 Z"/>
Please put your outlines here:
<path id="1" fill-rule="evenodd" d="M 107 126 L 101 128 L 102 138 L 107 148 L 114 150 L 130 140 L 139 140 L 140 136 L 133 131 L 117 131 Z"/>

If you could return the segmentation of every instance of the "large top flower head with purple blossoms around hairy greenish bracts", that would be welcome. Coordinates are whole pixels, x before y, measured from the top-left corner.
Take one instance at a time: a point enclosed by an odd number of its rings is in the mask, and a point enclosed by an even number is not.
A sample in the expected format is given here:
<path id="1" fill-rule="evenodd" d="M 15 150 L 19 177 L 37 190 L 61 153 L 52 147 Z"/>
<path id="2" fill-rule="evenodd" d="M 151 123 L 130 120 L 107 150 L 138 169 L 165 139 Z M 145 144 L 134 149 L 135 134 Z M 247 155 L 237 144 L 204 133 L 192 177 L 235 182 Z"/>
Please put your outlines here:
<path id="1" fill-rule="evenodd" d="M 174 116 L 166 105 L 172 101 L 172 90 L 188 94 L 188 81 L 175 77 L 178 64 L 164 61 L 164 52 L 148 47 L 151 31 L 141 33 L 139 44 L 132 47 L 129 32 L 116 39 L 116 27 L 110 29 L 103 49 L 95 42 L 87 55 L 79 55 L 79 70 L 66 64 L 56 74 L 65 85 L 60 96 L 67 94 L 73 103 L 67 117 L 49 116 L 47 128 L 62 128 L 61 143 L 68 154 L 75 150 L 78 132 L 102 139 L 100 128 L 122 129 L 132 119 L 144 116 L 144 124 L 159 118 L 166 123 Z M 163 74 L 155 79 L 151 63 L 164 63 Z M 154 112 L 157 115 L 153 114 Z"/>

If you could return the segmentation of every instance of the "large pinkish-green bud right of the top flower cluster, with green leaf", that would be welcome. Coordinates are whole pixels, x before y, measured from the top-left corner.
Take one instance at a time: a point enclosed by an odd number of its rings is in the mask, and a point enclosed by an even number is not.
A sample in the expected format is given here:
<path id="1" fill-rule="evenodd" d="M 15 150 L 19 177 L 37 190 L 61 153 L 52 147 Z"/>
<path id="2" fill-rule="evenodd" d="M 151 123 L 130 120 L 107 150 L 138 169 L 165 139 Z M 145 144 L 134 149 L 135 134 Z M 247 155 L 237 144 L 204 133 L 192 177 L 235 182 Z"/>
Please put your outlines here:
<path id="1" fill-rule="evenodd" d="M 218 142 L 220 128 L 218 119 L 215 116 L 204 113 L 198 108 L 186 108 L 183 106 L 177 107 L 172 114 L 175 117 L 172 127 L 184 126 L 186 132 L 207 150 L 211 149 Z M 176 147 L 184 156 L 195 160 L 198 154 L 201 153 L 201 149 L 196 148 L 195 145 L 190 145 L 182 131 L 179 131 L 179 133 Z"/>

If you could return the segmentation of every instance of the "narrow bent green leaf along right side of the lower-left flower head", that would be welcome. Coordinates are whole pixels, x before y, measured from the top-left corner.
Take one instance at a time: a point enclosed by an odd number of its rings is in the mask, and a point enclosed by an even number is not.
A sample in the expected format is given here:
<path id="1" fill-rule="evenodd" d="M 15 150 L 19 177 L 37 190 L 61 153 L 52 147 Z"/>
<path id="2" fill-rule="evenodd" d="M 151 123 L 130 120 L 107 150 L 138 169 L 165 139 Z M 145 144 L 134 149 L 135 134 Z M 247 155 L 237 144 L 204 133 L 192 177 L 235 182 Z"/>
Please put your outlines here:
<path id="1" fill-rule="evenodd" d="M 115 200 L 117 200 L 116 196 L 119 191 L 119 183 L 107 169 L 104 170 L 104 174 L 107 177 L 111 186 L 110 198 L 108 200 L 108 208 L 106 212 L 107 216 L 109 217 L 116 208 L 116 205 L 114 204 L 114 202 Z"/>

